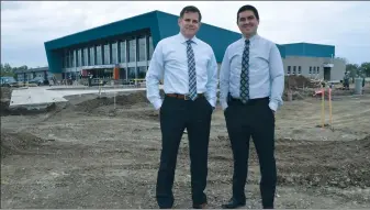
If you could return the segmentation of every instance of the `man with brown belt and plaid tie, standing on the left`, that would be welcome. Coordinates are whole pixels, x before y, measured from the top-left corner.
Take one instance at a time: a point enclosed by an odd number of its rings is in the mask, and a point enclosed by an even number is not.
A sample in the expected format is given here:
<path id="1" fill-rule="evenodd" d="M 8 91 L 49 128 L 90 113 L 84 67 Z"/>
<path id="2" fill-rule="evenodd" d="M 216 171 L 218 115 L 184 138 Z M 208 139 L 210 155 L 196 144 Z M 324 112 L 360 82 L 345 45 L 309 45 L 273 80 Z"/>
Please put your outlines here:
<path id="1" fill-rule="evenodd" d="M 161 40 L 146 74 L 147 98 L 159 110 L 160 166 L 156 198 L 159 208 L 173 206 L 172 185 L 179 144 L 188 131 L 193 208 L 205 207 L 208 147 L 211 115 L 216 103 L 217 63 L 211 46 L 195 37 L 201 13 L 186 7 L 180 13 L 180 33 Z M 158 84 L 164 80 L 164 100 Z"/>

